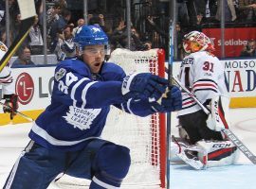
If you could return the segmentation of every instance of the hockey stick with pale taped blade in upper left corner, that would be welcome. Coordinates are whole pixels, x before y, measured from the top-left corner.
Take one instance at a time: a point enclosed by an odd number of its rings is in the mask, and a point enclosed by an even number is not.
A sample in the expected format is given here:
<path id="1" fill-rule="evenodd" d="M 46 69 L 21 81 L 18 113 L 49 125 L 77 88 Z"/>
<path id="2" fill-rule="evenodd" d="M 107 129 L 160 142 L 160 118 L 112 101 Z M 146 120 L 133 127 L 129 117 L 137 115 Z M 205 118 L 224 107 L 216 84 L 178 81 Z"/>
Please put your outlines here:
<path id="1" fill-rule="evenodd" d="M 17 51 L 18 47 L 24 42 L 29 33 L 30 26 L 34 23 L 36 15 L 34 0 L 18 0 L 19 9 L 21 12 L 21 30 L 9 46 L 9 50 L 0 61 L 0 72 L 8 64 L 12 55 Z"/>

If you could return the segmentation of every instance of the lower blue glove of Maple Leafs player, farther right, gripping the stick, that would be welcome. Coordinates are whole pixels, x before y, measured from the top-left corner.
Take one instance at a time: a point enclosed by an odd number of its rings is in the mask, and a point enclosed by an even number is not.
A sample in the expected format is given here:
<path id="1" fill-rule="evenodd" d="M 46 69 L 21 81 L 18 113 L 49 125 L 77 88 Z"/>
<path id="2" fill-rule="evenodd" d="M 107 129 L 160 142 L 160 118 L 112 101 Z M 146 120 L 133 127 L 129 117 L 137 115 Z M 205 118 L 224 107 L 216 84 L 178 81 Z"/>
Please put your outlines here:
<path id="1" fill-rule="evenodd" d="M 158 101 L 150 102 L 154 112 L 174 112 L 182 107 L 181 92 L 178 87 L 172 86 L 170 90 Z"/>

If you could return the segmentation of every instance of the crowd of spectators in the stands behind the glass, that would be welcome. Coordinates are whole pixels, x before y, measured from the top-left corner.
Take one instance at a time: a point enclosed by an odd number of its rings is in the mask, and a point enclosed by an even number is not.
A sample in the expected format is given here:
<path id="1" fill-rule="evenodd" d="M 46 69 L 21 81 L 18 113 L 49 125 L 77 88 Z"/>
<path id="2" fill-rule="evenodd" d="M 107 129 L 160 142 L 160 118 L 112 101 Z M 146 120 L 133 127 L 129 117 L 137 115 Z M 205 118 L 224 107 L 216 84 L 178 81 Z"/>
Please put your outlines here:
<path id="1" fill-rule="evenodd" d="M 29 31 L 22 48 L 28 48 L 31 55 L 43 54 L 43 1 L 35 0 L 38 16 Z M 89 25 L 99 25 L 106 32 L 110 41 L 110 49 L 128 48 L 128 31 L 125 18 L 125 1 L 107 0 L 108 7 L 103 8 L 101 0 L 88 0 Z M 133 0 L 131 23 L 131 50 L 149 50 L 161 47 L 168 49 L 169 43 L 169 0 Z M 192 30 L 201 31 L 206 25 L 220 23 L 221 0 L 176 0 L 176 49 L 177 59 L 184 57 L 182 36 Z M 70 59 L 75 56 L 73 42 L 76 31 L 85 24 L 83 14 L 78 16 L 72 10 L 72 2 L 68 0 L 46 1 L 46 47 L 48 54 L 55 54 L 58 60 Z M 256 22 L 256 0 L 225 0 L 225 21 L 229 23 Z M 116 7 L 117 6 L 117 7 Z M 12 41 L 21 26 L 16 0 L 9 0 L 10 33 Z M 14 12 L 14 13 L 13 13 Z M 5 32 L 5 1 L 0 0 L 0 35 L 6 43 Z M 74 17 L 76 15 L 76 17 Z M 255 39 L 254 39 L 255 40 Z M 251 40 L 248 44 L 252 43 Z M 255 41 L 254 41 L 255 43 Z M 243 49 L 241 56 L 247 53 Z"/>

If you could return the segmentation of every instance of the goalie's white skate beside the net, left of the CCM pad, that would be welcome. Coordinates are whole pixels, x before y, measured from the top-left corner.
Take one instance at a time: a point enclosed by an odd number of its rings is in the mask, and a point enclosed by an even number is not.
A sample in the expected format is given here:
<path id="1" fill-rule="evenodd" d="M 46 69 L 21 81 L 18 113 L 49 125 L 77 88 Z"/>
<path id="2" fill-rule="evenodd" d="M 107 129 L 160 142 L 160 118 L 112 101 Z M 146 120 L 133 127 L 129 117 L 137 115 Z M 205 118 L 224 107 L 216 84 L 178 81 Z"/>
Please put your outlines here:
<path id="1" fill-rule="evenodd" d="M 198 159 L 196 151 L 185 149 L 184 151 L 176 154 L 176 156 L 197 170 L 204 169 L 204 164 Z"/>

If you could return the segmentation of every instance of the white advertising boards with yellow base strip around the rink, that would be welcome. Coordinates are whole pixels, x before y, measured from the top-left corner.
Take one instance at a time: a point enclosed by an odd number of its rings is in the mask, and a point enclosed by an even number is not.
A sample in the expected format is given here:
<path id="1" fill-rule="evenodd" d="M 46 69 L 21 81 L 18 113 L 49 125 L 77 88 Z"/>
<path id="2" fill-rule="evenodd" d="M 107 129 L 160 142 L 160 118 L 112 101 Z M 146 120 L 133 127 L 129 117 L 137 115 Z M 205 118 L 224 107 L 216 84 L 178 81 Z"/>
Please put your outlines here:
<path id="1" fill-rule="evenodd" d="M 226 84 L 231 97 L 230 108 L 256 107 L 256 60 L 222 60 L 225 63 Z M 167 63 L 166 63 L 167 64 Z M 174 62 L 174 76 L 180 62 Z M 19 111 L 36 118 L 50 103 L 55 65 L 13 68 Z M 2 90 L 0 89 L 0 94 Z M 2 95 L 1 95 L 2 96 Z M 9 115 L 0 108 L 0 125 L 9 123 Z M 26 120 L 15 116 L 14 123 Z"/>

